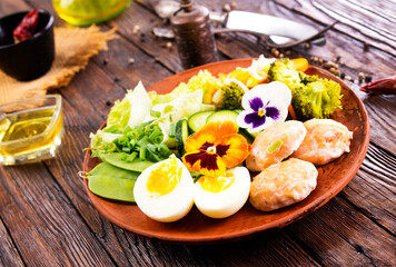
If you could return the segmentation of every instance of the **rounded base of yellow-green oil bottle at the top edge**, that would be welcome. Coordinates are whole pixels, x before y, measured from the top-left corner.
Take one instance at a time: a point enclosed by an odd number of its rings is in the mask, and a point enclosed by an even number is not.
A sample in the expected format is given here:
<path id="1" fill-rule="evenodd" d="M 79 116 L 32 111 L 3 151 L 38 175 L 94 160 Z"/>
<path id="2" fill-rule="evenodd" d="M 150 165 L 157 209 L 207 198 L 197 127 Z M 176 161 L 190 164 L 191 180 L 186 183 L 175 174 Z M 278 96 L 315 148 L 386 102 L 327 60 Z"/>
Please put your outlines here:
<path id="1" fill-rule="evenodd" d="M 109 20 L 130 4 L 130 0 L 52 0 L 58 16 L 75 26 L 89 26 Z"/>

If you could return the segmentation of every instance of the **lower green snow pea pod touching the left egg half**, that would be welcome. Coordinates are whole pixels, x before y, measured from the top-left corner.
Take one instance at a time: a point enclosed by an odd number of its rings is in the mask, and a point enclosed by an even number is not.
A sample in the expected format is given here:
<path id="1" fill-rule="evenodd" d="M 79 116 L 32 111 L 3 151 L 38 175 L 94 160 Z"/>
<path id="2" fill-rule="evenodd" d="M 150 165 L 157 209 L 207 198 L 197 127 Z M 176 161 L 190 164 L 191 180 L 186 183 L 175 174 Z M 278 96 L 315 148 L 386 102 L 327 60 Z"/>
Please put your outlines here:
<path id="1" fill-rule="evenodd" d="M 88 188 L 103 198 L 135 202 L 133 187 L 139 175 L 101 162 L 87 174 Z"/>

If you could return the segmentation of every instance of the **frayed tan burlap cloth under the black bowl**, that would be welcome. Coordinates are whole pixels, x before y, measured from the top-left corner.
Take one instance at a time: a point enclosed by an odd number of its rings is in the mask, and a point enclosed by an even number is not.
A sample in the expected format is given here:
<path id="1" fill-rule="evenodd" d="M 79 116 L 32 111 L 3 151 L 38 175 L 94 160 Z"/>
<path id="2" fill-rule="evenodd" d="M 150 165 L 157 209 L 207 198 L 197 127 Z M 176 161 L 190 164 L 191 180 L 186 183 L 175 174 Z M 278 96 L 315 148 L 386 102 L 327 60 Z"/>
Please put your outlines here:
<path id="1" fill-rule="evenodd" d="M 102 32 L 99 27 L 55 28 L 56 57 L 51 69 L 32 81 L 18 81 L 0 70 L 0 105 L 28 97 L 43 96 L 69 85 L 73 76 L 86 67 L 107 41 L 118 38 L 116 29 Z"/>

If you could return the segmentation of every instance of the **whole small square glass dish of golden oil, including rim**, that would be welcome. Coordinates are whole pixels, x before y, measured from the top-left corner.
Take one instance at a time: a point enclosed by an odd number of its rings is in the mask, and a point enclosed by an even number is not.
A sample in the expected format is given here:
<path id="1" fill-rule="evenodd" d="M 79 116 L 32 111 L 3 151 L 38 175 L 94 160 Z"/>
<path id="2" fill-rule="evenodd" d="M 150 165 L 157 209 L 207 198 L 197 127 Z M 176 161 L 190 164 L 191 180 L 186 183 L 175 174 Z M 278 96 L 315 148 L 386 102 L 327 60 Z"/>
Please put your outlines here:
<path id="1" fill-rule="evenodd" d="M 61 97 L 48 95 L 0 106 L 0 164 L 51 158 L 61 145 Z"/>

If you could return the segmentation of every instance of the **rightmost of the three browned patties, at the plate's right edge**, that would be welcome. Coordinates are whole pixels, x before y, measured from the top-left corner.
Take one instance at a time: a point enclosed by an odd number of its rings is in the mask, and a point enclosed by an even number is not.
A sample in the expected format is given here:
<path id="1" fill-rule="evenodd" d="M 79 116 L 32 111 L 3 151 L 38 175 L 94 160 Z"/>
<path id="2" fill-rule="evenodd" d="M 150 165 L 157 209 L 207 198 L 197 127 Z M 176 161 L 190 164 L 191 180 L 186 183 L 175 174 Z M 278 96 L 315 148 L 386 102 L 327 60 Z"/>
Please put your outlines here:
<path id="1" fill-rule="evenodd" d="M 353 132 L 331 119 L 311 119 L 304 122 L 307 135 L 291 157 L 309 161 L 316 166 L 349 152 Z"/>

